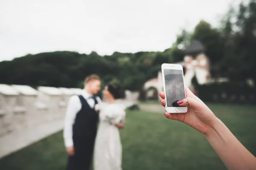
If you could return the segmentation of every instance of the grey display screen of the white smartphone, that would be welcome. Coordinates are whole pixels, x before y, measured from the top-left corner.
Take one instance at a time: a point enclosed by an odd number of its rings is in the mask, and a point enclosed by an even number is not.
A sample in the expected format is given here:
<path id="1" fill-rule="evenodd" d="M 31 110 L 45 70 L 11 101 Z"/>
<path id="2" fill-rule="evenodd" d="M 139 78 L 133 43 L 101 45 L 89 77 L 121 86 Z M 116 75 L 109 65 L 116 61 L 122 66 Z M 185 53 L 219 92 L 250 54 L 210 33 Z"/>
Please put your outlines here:
<path id="1" fill-rule="evenodd" d="M 167 107 L 181 107 L 177 104 L 177 101 L 185 98 L 183 72 L 172 69 L 163 69 L 163 72 Z"/>

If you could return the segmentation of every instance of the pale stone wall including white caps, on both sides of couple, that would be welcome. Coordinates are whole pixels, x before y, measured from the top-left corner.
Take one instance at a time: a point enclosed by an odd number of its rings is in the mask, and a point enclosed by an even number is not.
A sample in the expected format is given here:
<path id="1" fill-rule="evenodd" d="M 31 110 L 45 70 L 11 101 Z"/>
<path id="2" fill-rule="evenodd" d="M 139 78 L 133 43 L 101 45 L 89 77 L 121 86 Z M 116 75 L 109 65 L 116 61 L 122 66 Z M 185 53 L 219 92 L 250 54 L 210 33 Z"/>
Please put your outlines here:
<path id="1" fill-rule="evenodd" d="M 21 129 L 63 120 L 67 102 L 79 88 L 31 88 L 25 85 L 0 84 L 0 138 Z M 126 91 L 122 102 L 127 108 L 137 103 L 138 94 Z"/>

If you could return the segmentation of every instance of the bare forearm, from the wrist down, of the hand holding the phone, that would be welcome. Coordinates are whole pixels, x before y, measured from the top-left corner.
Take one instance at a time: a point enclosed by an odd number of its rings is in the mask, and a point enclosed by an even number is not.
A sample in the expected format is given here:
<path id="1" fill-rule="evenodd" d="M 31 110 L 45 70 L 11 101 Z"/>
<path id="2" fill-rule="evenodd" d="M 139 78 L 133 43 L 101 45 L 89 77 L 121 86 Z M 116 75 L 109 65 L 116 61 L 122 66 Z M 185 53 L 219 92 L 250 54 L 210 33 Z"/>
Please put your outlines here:
<path id="1" fill-rule="evenodd" d="M 205 136 L 227 169 L 256 169 L 256 158 L 236 139 L 221 120 L 218 120 Z"/>

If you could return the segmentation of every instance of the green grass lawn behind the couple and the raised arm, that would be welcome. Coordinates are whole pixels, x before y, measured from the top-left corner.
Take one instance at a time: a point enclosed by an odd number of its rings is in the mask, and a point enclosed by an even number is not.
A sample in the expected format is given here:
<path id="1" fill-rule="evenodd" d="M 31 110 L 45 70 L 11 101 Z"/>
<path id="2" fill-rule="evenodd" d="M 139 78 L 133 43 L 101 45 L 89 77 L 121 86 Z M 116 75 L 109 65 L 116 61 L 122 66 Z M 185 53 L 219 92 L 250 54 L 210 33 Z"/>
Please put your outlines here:
<path id="1" fill-rule="evenodd" d="M 256 107 L 209 105 L 235 136 L 256 155 Z M 221 170 L 221 160 L 204 135 L 166 119 L 163 113 L 128 111 L 121 130 L 123 170 Z M 0 160 L 0 170 L 64 170 L 62 132 Z"/>

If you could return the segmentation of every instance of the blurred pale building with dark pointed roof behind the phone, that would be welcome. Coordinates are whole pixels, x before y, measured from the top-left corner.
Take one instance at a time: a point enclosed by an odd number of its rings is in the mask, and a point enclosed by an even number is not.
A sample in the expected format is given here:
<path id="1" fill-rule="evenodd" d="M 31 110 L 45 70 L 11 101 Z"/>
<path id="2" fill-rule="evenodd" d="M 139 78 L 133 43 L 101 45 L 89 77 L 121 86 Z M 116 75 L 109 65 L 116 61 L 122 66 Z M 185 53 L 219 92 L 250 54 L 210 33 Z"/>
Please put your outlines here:
<path id="1" fill-rule="evenodd" d="M 194 40 L 184 50 L 184 60 L 175 63 L 183 66 L 184 84 L 192 91 L 194 91 L 193 77 L 196 77 L 199 85 L 206 84 L 210 80 L 209 59 L 204 51 L 204 45 Z M 157 77 L 145 82 L 143 89 L 146 99 L 160 99 L 159 93 L 163 92 L 162 72 L 159 71 Z"/>

